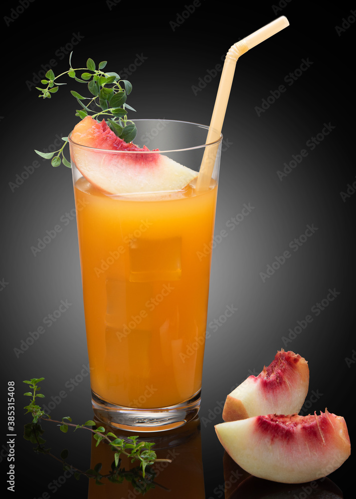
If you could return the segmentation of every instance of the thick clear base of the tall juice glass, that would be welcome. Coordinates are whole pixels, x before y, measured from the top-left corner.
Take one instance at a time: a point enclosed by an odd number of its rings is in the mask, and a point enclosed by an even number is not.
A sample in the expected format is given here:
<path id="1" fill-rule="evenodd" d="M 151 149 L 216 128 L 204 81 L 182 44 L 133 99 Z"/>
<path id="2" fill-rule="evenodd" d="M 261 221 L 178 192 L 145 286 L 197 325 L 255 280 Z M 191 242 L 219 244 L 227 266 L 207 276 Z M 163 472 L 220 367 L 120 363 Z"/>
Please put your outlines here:
<path id="1" fill-rule="evenodd" d="M 185 425 L 198 414 L 200 391 L 190 399 L 169 407 L 138 409 L 113 405 L 92 391 L 95 416 L 103 423 L 127 431 L 160 432 Z"/>

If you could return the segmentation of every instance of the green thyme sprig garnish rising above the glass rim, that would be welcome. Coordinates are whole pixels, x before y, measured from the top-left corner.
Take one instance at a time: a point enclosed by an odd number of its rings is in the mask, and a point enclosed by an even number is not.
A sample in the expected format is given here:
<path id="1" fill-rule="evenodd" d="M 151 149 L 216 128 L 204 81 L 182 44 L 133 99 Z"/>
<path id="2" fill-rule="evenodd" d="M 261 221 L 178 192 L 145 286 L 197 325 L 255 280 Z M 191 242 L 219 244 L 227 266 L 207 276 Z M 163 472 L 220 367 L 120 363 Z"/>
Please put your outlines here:
<path id="1" fill-rule="evenodd" d="M 57 76 L 54 75 L 52 69 L 46 72 L 45 79 L 41 80 L 41 83 L 45 87 L 36 87 L 40 91 L 38 97 L 50 99 L 52 94 L 58 91 L 59 85 L 66 85 L 66 83 L 59 83 L 57 81 L 57 78 L 65 74 L 79 83 L 86 83 L 91 94 L 90 97 L 83 97 L 75 90 L 70 91 L 82 108 L 76 109 L 75 116 L 79 116 L 81 119 L 84 119 L 86 116 L 91 116 L 92 118 L 109 116 L 107 124 L 115 135 L 127 143 L 132 142 L 136 137 L 137 129 L 134 122 L 127 119 L 127 110 L 135 111 L 135 109 L 126 103 L 127 96 L 132 90 L 131 83 L 128 80 L 122 80 L 118 73 L 112 71 L 106 73 L 102 71 L 107 61 L 100 62 L 97 69 L 93 59 L 89 58 L 87 60 L 87 67 L 73 68 L 71 64 L 72 53 L 69 55 L 69 69 L 67 71 Z M 77 76 L 79 71 L 84 71 L 81 73 L 81 78 Z M 84 104 L 84 100 L 88 100 L 88 102 Z M 90 109 L 91 106 L 96 106 L 100 111 L 93 111 Z M 52 166 L 59 166 L 63 163 L 63 165 L 70 168 L 70 163 L 63 154 L 63 148 L 68 142 L 68 137 L 62 137 L 62 140 L 64 140 L 64 144 L 58 151 L 43 153 L 35 149 L 35 152 L 42 158 L 51 159 Z M 53 156 L 55 153 L 57 154 Z"/>

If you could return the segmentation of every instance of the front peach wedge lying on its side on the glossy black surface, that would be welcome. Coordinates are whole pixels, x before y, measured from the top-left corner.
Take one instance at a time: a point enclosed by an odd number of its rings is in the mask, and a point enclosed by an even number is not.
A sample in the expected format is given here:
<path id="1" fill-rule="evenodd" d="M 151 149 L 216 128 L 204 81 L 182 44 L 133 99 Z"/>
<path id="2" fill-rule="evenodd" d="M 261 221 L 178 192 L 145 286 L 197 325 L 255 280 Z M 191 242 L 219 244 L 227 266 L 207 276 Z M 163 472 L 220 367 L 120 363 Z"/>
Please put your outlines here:
<path id="1" fill-rule="evenodd" d="M 258 478 L 301 484 L 329 475 L 350 456 L 345 419 L 329 413 L 256 416 L 215 425 L 231 458 Z"/>

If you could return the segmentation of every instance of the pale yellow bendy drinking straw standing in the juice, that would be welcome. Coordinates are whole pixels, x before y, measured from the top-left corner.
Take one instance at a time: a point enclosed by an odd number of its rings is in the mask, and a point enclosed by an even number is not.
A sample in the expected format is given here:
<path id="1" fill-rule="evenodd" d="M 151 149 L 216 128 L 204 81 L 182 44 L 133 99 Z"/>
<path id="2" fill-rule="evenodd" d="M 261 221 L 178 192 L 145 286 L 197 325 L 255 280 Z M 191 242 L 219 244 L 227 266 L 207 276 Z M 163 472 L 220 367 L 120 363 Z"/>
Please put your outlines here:
<path id="1" fill-rule="evenodd" d="M 214 109 L 206 138 L 206 144 L 211 144 L 220 137 L 237 59 L 250 48 L 255 47 L 264 40 L 267 40 L 267 38 L 278 33 L 278 31 L 281 31 L 281 29 L 287 26 L 289 26 L 288 19 L 282 15 L 230 47 L 226 54 L 225 62 L 222 68 L 219 88 L 217 89 Z M 212 148 L 205 147 L 196 182 L 197 191 L 203 191 L 209 187 L 216 153 L 217 145 Z"/>

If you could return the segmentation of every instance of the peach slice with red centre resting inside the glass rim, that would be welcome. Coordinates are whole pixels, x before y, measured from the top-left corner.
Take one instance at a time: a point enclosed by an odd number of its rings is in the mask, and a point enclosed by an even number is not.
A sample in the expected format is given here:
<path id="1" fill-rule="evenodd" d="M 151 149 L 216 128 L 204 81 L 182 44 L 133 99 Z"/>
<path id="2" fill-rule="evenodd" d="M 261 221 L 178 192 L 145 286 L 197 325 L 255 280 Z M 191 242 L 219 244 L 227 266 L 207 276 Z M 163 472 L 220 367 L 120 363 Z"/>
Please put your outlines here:
<path id="1" fill-rule="evenodd" d="M 197 176 L 158 149 L 126 143 L 105 120 L 98 123 L 91 116 L 74 127 L 70 146 L 71 159 L 83 177 L 108 194 L 181 190 Z"/>

